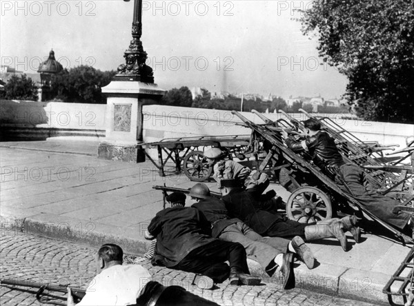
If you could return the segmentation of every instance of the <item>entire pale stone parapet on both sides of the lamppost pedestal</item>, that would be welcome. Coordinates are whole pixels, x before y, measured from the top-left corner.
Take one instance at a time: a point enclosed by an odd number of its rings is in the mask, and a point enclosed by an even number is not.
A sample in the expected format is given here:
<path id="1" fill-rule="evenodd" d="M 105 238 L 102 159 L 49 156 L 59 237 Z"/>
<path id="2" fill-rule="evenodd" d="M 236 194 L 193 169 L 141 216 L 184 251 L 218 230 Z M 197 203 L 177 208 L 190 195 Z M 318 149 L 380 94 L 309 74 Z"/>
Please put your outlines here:
<path id="1" fill-rule="evenodd" d="M 0 100 L 0 128 L 3 136 L 26 139 L 90 136 L 103 140 L 105 110 L 106 105 L 100 104 Z M 262 123 L 252 113 L 243 114 L 255 123 Z M 291 115 L 298 120 L 306 119 L 303 114 Z M 283 117 L 282 114 L 266 116 L 272 120 Z M 341 114 L 324 116 L 329 116 L 363 141 L 397 143 L 405 147 L 406 137 L 414 134 L 414 125 L 342 119 Z M 144 141 L 179 136 L 250 134 L 249 129 L 235 125 L 240 122 L 226 110 L 144 105 Z"/>

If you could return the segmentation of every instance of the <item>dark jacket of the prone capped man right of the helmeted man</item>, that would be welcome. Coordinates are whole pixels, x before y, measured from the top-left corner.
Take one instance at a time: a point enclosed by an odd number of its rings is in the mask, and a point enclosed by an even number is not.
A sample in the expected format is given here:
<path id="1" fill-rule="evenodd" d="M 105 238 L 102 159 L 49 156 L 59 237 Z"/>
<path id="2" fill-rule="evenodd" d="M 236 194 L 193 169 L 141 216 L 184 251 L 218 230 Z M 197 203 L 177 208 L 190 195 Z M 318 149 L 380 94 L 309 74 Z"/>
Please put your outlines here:
<path id="1" fill-rule="evenodd" d="M 259 197 L 241 188 L 231 190 L 222 199 L 230 217 L 239 218 L 258 234 L 264 234 L 273 223 L 284 218 L 266 210 L 270 208 L 270 202 L 259 201 Z"/>

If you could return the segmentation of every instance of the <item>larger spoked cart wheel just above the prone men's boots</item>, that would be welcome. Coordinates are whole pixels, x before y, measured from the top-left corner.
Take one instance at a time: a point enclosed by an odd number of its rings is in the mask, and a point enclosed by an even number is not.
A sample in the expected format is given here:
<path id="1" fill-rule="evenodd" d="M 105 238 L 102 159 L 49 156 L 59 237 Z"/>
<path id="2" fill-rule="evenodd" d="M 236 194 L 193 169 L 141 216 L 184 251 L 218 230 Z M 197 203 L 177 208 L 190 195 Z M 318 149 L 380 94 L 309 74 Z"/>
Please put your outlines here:
<path id="1" fill-rule="evenodd" d="M 329 219 L 332 218 L 331 200 L 315 187 L 300 187 L 290 194 L 286 213 L 290 220 L 300 223 Z"/>

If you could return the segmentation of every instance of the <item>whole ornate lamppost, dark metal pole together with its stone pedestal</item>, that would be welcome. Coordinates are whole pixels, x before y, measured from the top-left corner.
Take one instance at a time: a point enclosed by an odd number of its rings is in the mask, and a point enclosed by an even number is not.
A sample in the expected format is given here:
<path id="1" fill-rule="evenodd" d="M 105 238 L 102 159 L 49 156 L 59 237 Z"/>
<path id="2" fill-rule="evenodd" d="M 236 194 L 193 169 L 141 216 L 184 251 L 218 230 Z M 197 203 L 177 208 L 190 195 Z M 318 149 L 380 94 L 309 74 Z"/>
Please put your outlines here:
<path id="1" fill-rule="evenodd" d="M 130 0 L 124 0 L 126 2 Z M 142 48 L 142 0 L 135 0 L 132 41 L 124 52 L 126 63 L 119 65 L 114 79 L 102 88 L 107 96 L 105 140 L 99 143 L 101 159 L 139 163 L 145 161 L 143 106 L 157 104 L 164 95 L 154 83 L 152 68 L 146 65 Z"/>

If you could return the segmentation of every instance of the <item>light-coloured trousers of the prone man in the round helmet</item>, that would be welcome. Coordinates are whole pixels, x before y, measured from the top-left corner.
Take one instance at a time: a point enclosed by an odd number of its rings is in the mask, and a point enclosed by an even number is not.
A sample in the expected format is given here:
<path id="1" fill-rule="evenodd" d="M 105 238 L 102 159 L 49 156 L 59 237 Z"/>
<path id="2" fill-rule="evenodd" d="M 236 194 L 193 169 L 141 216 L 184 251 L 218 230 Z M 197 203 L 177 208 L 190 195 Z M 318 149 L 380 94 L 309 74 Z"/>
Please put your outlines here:
<path id="1" fill-rule="evenodd" d="M 224 241 L 240 243 L 246 254 L 257 261 L 264 269 L 277 254 L 286 253 L 290 241 L 284 238 L 263 237 L 243 222 L 228 225 L 218 237 Z"/>

